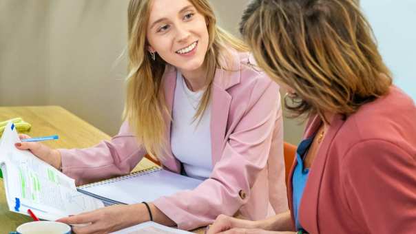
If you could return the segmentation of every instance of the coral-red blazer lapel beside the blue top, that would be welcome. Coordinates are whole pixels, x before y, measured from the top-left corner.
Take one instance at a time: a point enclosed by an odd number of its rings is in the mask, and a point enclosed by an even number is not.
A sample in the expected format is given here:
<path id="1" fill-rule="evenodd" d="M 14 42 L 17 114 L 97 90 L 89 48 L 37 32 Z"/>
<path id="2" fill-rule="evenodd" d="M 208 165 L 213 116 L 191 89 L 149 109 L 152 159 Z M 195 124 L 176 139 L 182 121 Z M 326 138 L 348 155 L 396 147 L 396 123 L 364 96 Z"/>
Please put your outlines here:
<path id="1" fill-rule="evenodd" d="M 315 117 L 315 118 L 318 118 Z M 324 168 L 326 164 L 326 159 L 329 157 L 328 151 L 333 139 L 335 138 L 338 130 L 342 127 L 344 120 L 342 116 L 337 114 L 333 117 L 331 121 L 331 126 L 326 133 L 324 140 L 321 143 L 320 149 L 318 149 L 317 156 L 313 161 L 311 170 L 309 171 L 308 182 L 304 188 L 304 195 L 300 201 L 300 223 L 306 231 L 309 233 L 319 233 L 319 224 L 318 224 L 318 203 L 319 203 L 319 193 L 320 186 L 322 183 L 322 175 L 324 173 Z M 318 129 L 321 124 L 321 120 L 315 119 L 311 125 L 311 130 L 309 133 L 306 133 L 307 136 L 311 136 L 316 129 Z M 313 129 L 315 129 L 313 131 Z M 304 198 L 307 198 L 306 200 Z M 306 218 L 309 217 L 309 218 Z"/>

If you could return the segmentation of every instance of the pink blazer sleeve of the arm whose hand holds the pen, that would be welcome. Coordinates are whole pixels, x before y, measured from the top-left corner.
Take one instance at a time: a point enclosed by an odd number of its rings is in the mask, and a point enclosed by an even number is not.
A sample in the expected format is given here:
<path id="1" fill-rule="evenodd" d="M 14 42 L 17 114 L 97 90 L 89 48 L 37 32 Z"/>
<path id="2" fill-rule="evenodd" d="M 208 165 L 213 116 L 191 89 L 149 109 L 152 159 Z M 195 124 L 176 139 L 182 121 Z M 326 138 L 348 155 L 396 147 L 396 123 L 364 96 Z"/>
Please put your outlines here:
<path id="1" fill-rule="evenodd" d="M 127 174 L 143 158 L 145 151 L 138 146 L 127 122 L 110 141 L 86 149 L 59 149 L 62 171 L 76 184 L 86 184 L 115 175 Z"/>

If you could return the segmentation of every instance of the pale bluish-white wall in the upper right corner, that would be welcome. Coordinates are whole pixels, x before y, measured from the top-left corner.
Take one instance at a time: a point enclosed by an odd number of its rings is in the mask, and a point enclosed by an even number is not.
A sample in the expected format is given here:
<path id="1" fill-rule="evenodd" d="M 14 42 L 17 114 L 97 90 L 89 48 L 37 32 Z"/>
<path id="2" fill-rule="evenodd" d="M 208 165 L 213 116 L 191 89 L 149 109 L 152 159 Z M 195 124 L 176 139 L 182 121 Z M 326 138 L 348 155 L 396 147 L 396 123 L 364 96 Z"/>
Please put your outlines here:
<path id="1" fill-rule="evenodd" d="M 416 1 L 362 0 L 395 84 L 416 100 Z"/>

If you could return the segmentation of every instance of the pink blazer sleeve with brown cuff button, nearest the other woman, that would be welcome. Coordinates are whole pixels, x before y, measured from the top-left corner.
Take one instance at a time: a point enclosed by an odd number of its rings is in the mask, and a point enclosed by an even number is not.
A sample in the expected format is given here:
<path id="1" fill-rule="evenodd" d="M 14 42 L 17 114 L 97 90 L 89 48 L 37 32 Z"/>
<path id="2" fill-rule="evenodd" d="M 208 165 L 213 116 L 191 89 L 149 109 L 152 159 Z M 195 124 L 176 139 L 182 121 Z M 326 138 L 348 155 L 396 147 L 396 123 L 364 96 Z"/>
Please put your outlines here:
<path id="1" fill-rule="evenodd" d="M 190 230 L 214 222 L 220 214 L 235 214 L 250 198 L 253 183 L 267 166 L 275 125 L 278 122 L 280 127 L 282 121 L 278 86 L 260 78 L 247 95 L 251 95 L 249 103 L 239 105 L 245 107 L 244 114 L 231 123 L 233 131 L 210 178 L 192 191 L 154 201 L 178 228 Z"/>

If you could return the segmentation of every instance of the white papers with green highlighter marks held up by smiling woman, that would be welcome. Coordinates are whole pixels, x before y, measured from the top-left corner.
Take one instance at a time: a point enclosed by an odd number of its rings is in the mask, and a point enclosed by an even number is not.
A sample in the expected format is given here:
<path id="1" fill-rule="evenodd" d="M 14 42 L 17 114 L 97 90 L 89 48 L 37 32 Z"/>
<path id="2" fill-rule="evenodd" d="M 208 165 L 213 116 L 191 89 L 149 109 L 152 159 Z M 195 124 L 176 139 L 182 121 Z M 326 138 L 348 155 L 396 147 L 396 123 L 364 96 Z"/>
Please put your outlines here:
<path id="1" fill-rule="evenodd" d="M 28 209 L 43 220 L 93 211 L 103 202 L 76 191 L 75 181 L 14 144 L 21 142 L 12 123 L 0 140 L 0 169 L 10 211 L 28 215 Z"/>

